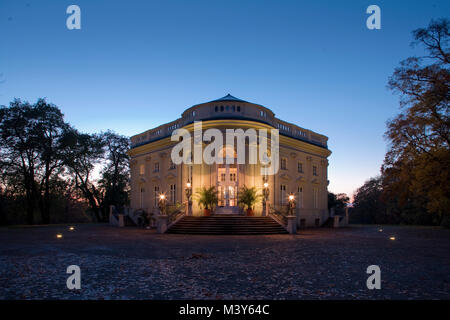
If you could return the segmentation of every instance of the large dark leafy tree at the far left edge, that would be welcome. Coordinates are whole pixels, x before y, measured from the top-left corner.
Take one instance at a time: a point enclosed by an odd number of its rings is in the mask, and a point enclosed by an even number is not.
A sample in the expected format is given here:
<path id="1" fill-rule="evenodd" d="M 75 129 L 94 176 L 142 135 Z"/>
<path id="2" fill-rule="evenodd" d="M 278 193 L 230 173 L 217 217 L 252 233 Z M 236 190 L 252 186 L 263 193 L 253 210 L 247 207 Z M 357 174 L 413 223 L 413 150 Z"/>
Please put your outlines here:
<path id="1" fill-rule="evenodd" d="M 63 168 L 67 128 L 61 110 L 45 99 L 33 105 L 16 99 L 0 109 L 0 170 L 4 182 L 24 192 L 30 224 L 37 205 L 42 222 L 50 222 L 52 181 Z"/>

